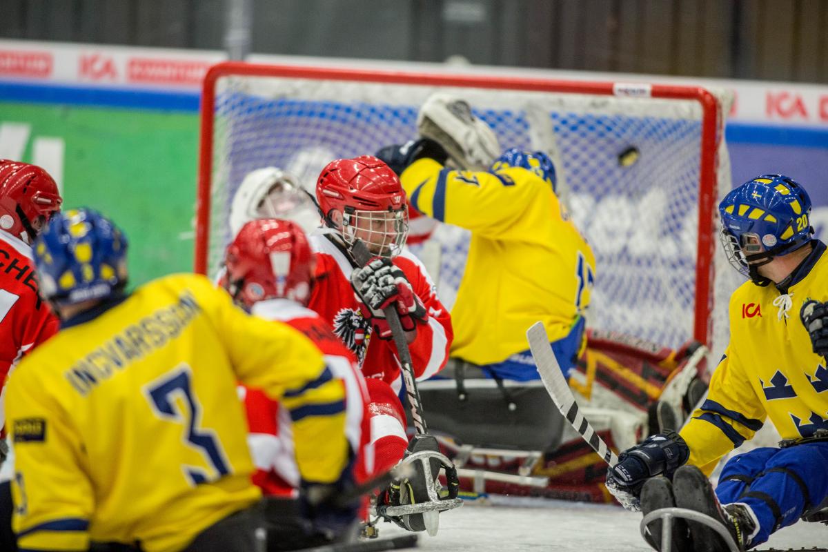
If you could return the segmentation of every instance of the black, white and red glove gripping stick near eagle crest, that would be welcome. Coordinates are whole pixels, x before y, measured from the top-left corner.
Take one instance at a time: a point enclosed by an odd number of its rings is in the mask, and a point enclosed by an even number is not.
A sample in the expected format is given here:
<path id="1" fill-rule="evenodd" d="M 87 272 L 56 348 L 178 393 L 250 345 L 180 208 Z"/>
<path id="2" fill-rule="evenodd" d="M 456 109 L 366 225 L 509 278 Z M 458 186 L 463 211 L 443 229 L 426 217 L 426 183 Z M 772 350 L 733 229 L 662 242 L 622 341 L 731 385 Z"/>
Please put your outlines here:
<path id="1" fill-rule="evenodd" d="M 388 306 L 397 310 L 406 332 L 416 331 L 416 323 L 424 323 L 428 318 L 426 307 L 414 293 L 405 273 L 386 257 L 373 257 L 363 268 L 355 268 L 351 286 L 363 318 L 371 320 L 380 339 L 393 338 L 383 313 Z"/>

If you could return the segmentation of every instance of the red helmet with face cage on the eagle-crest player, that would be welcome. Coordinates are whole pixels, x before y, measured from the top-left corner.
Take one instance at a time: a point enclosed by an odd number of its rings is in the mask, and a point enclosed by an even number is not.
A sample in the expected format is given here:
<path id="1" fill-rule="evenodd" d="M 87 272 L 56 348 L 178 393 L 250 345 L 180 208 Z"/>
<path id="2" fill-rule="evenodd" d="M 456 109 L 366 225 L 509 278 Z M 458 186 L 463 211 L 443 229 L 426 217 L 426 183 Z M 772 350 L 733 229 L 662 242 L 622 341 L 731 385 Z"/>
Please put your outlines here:
<path id="1" fill-rule="evenodd" d="M 395 257 L 408 235 L 406 192 L 388 165 L 373 156 L 331 161 L 316 181 L 325 223 L 348 245 L 359 238 L 374 254 Z M 335 220 L 339 211 L 342 221 Z"/>

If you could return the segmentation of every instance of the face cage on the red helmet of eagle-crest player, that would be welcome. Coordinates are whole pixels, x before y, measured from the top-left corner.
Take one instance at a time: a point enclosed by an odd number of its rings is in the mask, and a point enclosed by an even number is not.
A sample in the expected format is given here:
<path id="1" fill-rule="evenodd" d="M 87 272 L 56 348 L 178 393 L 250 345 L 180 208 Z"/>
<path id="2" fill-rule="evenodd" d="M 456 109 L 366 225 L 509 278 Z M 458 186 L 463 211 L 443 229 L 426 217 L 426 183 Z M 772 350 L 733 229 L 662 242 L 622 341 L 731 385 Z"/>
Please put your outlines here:
<path id="1" fill-rule="evenodd" d="M 359 238 L 374 255 L 397 257 L 408 238 L 408 207 L 388 211 L 346 207 L 341 234 L 348 245 L 353 245 Z"/>

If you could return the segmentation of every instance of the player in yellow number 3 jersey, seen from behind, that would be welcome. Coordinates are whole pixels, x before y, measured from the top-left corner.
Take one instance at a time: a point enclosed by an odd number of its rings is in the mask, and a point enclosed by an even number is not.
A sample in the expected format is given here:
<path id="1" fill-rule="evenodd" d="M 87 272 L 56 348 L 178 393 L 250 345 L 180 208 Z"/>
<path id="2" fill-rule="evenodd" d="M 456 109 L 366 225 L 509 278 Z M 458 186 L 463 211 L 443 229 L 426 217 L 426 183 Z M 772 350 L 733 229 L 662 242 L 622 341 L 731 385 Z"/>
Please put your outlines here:
<path id="1" fill-rule="evenodd" d="M 290 410 L 316 492 L 349 477 L 345 386 L 308 338 L 249 316 L 204 276 L 127 293 L 126 253 L 123 233 L 89 209 L 53 217 L 34 245 L 61 328 L 8 382 L 18 545 L 258 550 L 261 492 L 236 382 Z"/>

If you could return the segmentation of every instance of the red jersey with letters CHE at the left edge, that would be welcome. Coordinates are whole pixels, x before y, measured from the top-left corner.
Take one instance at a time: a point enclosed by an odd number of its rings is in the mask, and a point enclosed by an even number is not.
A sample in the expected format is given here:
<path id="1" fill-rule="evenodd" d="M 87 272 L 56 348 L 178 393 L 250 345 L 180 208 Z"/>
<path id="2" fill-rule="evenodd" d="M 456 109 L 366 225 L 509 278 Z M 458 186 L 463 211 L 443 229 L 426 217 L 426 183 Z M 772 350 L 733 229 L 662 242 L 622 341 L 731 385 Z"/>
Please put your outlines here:
<path id="1" fill-rule="evenodd" d="M 60 326 L 37 293 L 31 247 L 0 230 L 0 386 L 31 348 L 51 338 Z M 0 398 L 0 426 L 5 422 Z"/>

